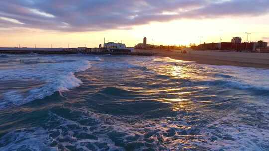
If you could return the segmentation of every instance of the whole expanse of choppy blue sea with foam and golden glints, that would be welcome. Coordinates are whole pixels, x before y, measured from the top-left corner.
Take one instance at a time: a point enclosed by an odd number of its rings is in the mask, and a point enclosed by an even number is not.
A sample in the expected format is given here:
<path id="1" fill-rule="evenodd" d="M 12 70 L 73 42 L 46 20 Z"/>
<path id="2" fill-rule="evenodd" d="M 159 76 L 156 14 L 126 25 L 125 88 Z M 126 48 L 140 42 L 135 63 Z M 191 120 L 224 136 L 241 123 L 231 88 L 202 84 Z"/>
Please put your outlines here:
<path id="1" fill-rule="evenodd" d="M 269 70 L 0 55 L 0 151 L 269 151 Z"/>

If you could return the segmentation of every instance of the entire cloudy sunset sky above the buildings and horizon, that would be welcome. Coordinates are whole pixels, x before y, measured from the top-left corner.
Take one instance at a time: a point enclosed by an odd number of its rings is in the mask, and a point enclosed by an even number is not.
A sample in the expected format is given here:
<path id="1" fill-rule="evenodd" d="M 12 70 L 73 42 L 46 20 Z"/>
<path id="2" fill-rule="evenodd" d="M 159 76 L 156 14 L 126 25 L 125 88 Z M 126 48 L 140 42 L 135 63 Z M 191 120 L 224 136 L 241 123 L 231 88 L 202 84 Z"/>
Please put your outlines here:
<path id="1" fill-rule="evenodd" d="M 0 47 L 269 42 L 269 0 L 1 0 Z"/>

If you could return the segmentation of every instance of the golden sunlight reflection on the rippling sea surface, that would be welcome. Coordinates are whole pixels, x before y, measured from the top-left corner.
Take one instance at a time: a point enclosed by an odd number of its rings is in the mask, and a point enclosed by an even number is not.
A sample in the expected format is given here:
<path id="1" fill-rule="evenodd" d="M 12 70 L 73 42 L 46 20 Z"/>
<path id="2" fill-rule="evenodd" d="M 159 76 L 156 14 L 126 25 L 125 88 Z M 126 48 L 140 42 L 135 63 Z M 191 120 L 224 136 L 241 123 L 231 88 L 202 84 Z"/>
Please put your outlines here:
<path id="1" fill-rule="evenodd" d="M 195 94 L 199 92 L 199 90 L 207 89 L 207 87 L 180 87 L 180 84 L 183 84 L 184 79 L 188 80 L 195 80 L 200 77 L 199 75 L 196 75 L 195 68 L 192 68 L 191 66 L 185 65 L 184 61 L 180 60 L 173 60 L 171 58 L 168 58 L 171 62 L 174 64 L 169 65 L 163 65 L 162 67 L 156 69 L 155 71 L 159 75 L 168 76 L 170 78 L 174 79 L 182 79 L 181 81 L 178 81 L 178 84 L 176 87 L 166 88 L 165 90 L 159 90 L 162 92 L 166 92 L 167 95 L 175 95 L 177 98 L 164 98 L 164 99 L 158 99 L 158 101 L 162 101 L 165 103 L 171 103 L 172 104 L 172 110 L 173 111 L 193 111 L 197 110 L 199 107 L 198 104 L 194 103 L 191 99 L 191 97 L 195 97 Z M 161 61 L 161 60 L 160 60 Z M 166 60 L 167 61 L 167 60 Z M 178 62 L 180 64 L 175 63 Z M 181 64 L 183 63 L 183 64 Z M 165 80 L 164 80 L 165 82 Z M 155 90 L 153 90 L 155 91 Z M 156 92 L 156 91 L 155 91 Z M 205 101 L 204 103 L 210 103 L 211 101 Z"/>

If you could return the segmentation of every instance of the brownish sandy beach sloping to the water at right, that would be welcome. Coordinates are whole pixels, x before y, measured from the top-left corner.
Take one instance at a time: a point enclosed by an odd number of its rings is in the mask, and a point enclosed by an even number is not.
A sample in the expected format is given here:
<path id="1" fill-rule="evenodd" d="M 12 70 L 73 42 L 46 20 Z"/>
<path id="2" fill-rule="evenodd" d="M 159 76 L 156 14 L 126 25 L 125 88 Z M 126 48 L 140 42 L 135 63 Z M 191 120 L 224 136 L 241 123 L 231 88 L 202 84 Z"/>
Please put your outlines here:
<path id="1" fill-rule="evenodd" d="M 184 60 L 184 61 L 195 61 L 198 64 L 208 65 L 220 65 L 220 66 L 239 66 L 239 67 L 253 67 L 253 68 L 264 68 L 269 69 L 269 64 L 256 64 L 256 63 L 245 63 L 237 61 L 227 61 L 225 59 L 212 59 L 205 57 L 197 57 L 192 54 L 182 54 L 180 50 L 143 50 L 135 49 L 136 52 L 150 52 L 155 53 L 154 56 L 170 57 L 172 59 Z M 269 63 L 269 62 L 268 62 Z"/>

